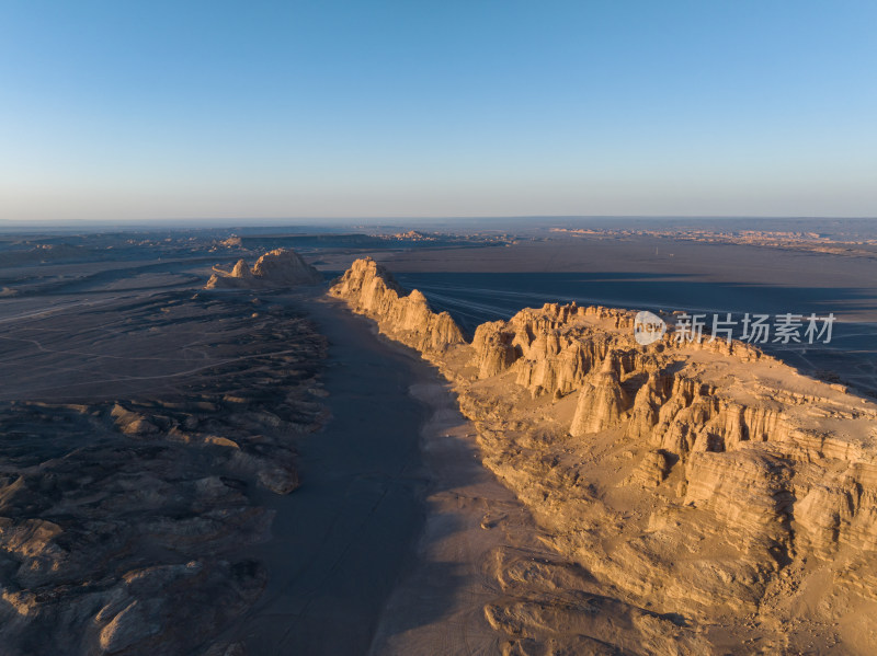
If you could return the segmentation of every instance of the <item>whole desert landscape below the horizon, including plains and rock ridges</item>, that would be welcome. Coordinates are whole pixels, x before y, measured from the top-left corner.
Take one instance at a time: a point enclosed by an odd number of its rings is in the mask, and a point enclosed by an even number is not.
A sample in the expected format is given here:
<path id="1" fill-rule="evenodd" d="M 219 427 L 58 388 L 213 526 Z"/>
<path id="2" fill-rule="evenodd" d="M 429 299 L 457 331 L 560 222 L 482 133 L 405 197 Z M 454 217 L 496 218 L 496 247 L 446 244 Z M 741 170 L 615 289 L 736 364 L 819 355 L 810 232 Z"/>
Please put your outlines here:
<path id="1" fill-rule="evenodd" d="M 876 258 L 855 221 L 7 230 L 0 653 L 872 654 Z"/>

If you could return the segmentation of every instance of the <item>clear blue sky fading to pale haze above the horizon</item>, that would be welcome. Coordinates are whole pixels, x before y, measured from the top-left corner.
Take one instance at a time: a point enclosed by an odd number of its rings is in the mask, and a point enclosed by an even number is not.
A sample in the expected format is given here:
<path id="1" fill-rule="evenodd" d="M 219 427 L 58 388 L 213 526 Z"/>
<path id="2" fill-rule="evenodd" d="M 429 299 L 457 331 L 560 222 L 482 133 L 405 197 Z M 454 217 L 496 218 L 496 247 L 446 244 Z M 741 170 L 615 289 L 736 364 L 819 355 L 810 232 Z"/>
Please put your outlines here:
<path id="1" fill-rule="evenodd" d="M 874 0 L 0 0 L 0 219 L 877 216 Z"/>

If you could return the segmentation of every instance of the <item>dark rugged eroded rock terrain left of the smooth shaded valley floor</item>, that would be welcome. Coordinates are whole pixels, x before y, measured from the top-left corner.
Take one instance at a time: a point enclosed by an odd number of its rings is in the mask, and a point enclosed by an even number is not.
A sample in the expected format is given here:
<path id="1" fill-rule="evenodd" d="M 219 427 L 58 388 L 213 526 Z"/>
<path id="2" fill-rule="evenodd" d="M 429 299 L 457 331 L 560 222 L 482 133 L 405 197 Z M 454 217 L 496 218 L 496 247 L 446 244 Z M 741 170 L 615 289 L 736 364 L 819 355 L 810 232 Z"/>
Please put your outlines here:
<path id="1" fill-rule="evenodd" d="M 295 436 L 327 417 L 324 338 L 250 300 L 150 294 L 94 331 L 98 353 L 139 332 L 179 345 L 166 362 L 196 349 L 184 378 L 163 369 L 171 385 L 0 403 L 0 654 L 232 654 L 207 645 L 266 585 L 252 546 L 274 510 L 257 490 L 297 486 Z"/>

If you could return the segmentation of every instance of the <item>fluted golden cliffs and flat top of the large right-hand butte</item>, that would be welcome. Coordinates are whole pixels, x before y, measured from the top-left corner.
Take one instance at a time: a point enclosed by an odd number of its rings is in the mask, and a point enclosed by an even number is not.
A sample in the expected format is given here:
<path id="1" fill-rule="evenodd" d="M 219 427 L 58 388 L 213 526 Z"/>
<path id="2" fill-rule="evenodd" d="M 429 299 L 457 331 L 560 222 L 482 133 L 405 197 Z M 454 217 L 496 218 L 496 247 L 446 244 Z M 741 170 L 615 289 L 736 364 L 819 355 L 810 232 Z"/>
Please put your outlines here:
<path id="1" fill-rule="evenodd" d="M 614 430 L 643 449 L 628 482 L 657 486 L 672 472 L 680 503 L 708 509 L 749 541 L 817 557 L 843 544 L 873 551 L 875 513 L 862 503 L 877 495 L 873 404 L 743 344 L 679 346 L 671 334 L 639 346 L 624 333 L 631 318 L 574 306 L 524 310 L 479 326 L 472 361 L 479 379 L 513 371 L 536 396 L 574 395 L 573 438 Z M 515 350 L 498 357 L 498 344 Z M 755 362 L 763 376 L 747 376 Z"/>

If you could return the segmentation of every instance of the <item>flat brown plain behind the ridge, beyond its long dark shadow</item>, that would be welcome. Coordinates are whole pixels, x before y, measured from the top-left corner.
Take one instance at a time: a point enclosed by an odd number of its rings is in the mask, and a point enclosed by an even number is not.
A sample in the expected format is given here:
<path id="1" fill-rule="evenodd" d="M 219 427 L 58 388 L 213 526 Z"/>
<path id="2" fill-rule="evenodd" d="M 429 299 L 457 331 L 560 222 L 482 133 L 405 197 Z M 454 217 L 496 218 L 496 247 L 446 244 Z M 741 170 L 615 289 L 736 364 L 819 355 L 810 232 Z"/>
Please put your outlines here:
<path id="1" fill-rule="evenodd" d="M 707 244 L 637 237 L 630 239 L 521 242 L 509 246 L 369 252 L 394 274 L 405 273 L 593 273 L 630 279 L 713 284 L 748 288 L 830 289 L 827 309 L 858 322 L 877 321 L 874 260 L 799 253 L 750 245 Z M 345 271 L 358 253 L 323 255 L 329 271 Z"/>

